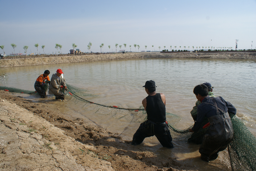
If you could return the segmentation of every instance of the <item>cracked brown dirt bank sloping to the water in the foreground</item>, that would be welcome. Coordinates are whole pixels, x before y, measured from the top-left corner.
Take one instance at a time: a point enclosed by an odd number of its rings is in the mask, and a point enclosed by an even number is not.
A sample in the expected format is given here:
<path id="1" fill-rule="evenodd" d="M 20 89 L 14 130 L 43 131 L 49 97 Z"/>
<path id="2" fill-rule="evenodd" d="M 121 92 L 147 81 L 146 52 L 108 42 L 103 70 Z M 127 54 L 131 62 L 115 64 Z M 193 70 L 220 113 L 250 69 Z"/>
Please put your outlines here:
<path id="1" fill-rule="evenodd" d="M 194 166 L 145 151 L 45 103 L 0 90 L 0 170 L 177 171 Z"/>

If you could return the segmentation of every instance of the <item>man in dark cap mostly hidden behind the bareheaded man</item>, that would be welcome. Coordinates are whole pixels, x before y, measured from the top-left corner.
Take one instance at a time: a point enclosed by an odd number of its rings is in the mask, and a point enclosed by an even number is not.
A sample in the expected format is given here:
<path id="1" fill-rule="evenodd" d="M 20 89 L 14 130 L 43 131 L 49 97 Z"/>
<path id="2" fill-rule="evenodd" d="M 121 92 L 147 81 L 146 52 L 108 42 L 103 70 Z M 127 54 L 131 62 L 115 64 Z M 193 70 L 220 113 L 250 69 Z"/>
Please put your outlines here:
<path id="1" fill-rule="evenodd" d="M 215 97 L 212 93 L 212 85 L 210 83 L 203 83 L 204 85 L 206 85 L 208 87 L 208 95 L 210 97 Z M 190 111 L 192 118 L 194 119 L 194 121 L 196 121 L 197 119 L 197 106 L 201 104 L 201 101 L 196 101 L 196 105 L 193 107 L 192 111 Z M 196 131 L 195 133 L 192 133 L 191 137 L 188 139 L 189 143 L 196 143 L 196 144 L 201 144 L 203 141 L 203 137 L 205 134 L 206 129 L 203 129 L 203 126 L 208 123 L 208 119 L 207 117 L 204 118 L 204 121 L 202 122 L 202 125 L 200 127 L 200 129 L 198 131 Z"/>

